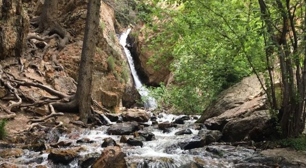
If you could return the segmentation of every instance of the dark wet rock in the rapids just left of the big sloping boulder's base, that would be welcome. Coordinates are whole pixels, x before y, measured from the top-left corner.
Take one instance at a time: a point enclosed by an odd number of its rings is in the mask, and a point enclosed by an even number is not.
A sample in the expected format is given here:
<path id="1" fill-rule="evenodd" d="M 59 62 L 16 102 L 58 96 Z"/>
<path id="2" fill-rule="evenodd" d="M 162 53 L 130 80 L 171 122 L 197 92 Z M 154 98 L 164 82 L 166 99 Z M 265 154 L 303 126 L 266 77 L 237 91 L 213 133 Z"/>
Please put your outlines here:
<path id="1" fill-rule="evenodd" d="M 201 148 L 206 145 L 206 137 L 205 136 L 199 136 L 196 135 L 192 137 L 191 139 L 187 139 L 183 143 L 179 143 L 179 146 L 181 149 L 189 150 L 194 148 Z"/>

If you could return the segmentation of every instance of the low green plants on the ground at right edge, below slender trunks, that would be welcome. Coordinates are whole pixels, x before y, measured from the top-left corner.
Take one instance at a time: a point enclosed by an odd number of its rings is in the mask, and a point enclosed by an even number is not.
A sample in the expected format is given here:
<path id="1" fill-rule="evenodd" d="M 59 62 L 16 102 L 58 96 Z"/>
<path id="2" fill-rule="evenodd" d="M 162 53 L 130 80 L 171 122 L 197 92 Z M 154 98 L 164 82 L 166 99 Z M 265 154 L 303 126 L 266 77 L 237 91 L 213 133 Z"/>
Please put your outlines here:
<path id="1" fill-rule="evenodd" d="M 283 147 L 291 147 L 296 150 L 306 151 L 306 135 L 300 135 L 297 138 L 287 138 L 279 141 Z"/>

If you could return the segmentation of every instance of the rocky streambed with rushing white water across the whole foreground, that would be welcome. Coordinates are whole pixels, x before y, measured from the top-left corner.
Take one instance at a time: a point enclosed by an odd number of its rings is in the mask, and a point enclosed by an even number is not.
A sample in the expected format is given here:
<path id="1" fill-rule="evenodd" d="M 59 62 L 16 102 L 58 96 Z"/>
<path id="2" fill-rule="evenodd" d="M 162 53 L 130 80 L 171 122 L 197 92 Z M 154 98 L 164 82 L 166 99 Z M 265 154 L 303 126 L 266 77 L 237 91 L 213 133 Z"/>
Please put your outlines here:
<path id="1" fill-rule="evenodd" d="M 0 167 L 305 167 L 306 153 L 224 143 L 222 133 L 175 116 L 129 109 L 108 126 L 37 130 L 0 143 Z M 22 143 L 22 144 L 21 144 Z"/>

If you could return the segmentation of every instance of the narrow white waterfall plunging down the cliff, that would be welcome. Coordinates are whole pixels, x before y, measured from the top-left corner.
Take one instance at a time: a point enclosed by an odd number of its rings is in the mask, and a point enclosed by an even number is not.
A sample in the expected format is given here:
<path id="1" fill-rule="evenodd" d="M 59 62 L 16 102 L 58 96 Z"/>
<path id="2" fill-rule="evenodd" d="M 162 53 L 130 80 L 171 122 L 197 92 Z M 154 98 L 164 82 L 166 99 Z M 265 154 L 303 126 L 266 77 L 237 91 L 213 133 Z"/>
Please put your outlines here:
<path id="1" fill-rule="evenodd" d="M 137 75 L 135 65 L 134 65 L 134 60 L 132 58 L 131 52 L 130 52 L 129 49 L 127 49 L 125 47 L 126 46 L 126 38 L 129 35 L 130 31 L 131 31 L 131 29 L 127 29 L 126 32 L 121 34 L 120 39 L 119 39 L 120 44 L 122 45 L 122 47 L 124 49 L 127 60 L 129 61 L 129 65 L 130 65 L 131 72 L 132 72 L 132 75 L 133 75 L 135 87 L 142 97 L 147 98 L 147 101 L 145 102 L 144 106 L 146 108 L 156 108 L 157 107 L 156 100 L 152 97 L 148 97 L 148 90 L 145 87 L 143 87 L 143 83 L 141 83 L 141 81 L 139 79 L 139 76 Z"/>

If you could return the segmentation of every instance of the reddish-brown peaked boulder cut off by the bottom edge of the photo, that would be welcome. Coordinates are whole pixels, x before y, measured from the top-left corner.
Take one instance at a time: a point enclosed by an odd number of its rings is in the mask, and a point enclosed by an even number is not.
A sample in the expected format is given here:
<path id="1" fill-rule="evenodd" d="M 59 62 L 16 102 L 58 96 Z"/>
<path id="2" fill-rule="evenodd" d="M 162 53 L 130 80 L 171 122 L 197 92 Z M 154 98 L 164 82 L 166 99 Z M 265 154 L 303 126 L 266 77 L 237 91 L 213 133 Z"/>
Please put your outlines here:
<path id="1" fill-rule="evenodd" d="M 125 154 L 119 147 L 106 147 L 92 168 L 126 168 Z"/>

